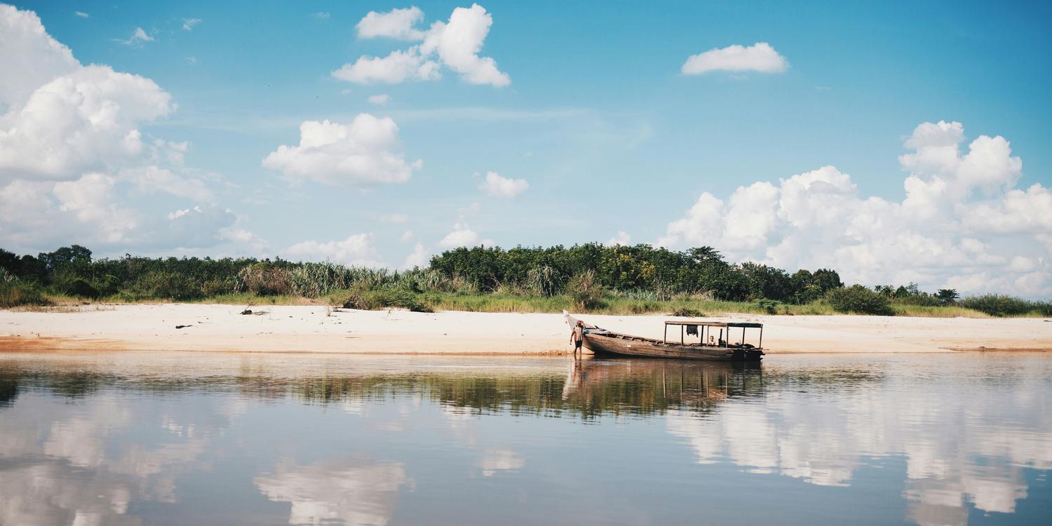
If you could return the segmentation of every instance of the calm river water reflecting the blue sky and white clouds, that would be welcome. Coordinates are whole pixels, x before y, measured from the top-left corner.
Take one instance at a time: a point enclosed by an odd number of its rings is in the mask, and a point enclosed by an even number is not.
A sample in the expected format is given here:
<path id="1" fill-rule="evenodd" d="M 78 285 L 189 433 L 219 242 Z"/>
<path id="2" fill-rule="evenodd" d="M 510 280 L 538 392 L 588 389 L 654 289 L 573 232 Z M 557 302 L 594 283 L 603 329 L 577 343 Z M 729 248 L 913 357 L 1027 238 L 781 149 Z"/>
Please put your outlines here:
<path id="1" fill-rule="evenodd" d="M 0 524 L 1052 524 L 1052 357 L 0 353 Z"/>

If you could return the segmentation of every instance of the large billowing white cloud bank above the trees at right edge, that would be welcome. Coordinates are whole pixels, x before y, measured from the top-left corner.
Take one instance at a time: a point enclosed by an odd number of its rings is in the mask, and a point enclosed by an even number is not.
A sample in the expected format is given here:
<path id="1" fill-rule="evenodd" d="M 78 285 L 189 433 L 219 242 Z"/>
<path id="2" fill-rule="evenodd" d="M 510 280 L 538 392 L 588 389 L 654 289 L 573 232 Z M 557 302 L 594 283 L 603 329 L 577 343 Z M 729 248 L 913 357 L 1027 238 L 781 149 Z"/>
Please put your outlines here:
<path id="1" fill-rule="evenodd" d="M 982 136 L 962 155 L 964 138 L 956 122 L 917 126 L 899 158 L 910 170 L 901 202 L 859 196 L 848 174 L 824 166 L 726 200 L 704 193 L 658 244 L 711 245 L 790 270 L 829 266 L 870 285 L 1052 294 L 1052 193 L 1013 188 L 1023 163 L 1003 137 Z"/>

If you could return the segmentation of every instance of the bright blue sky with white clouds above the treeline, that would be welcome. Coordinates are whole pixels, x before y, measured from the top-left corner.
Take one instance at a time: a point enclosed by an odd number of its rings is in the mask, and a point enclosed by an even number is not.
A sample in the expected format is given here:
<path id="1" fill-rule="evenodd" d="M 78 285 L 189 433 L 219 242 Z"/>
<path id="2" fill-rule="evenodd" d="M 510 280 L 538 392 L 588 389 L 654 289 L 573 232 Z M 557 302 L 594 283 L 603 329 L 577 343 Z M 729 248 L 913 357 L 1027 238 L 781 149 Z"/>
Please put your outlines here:
<path id="1" fill-rule="evenodd" d="M 1052 297 L 1052 7 L 0 4 L 0 247 L 710 245 Z"/>

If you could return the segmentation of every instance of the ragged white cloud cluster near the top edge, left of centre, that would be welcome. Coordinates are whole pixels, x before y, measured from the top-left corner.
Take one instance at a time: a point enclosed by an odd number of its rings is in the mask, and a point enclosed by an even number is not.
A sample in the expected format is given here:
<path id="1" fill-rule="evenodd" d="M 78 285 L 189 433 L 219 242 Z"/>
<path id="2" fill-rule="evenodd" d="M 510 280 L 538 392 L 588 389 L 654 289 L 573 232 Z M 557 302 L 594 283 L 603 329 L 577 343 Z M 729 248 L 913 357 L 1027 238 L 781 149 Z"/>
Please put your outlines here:
<path id="1" fill-rule="evenodd" d="M 479 4 L 457 7 L 449 22 L 437 21 L 427 31 L 414 28 L 423 16 L 418 7 L 384 14 L 370 12 L 358 23 L 359 38 L 390 37 L 421 43 L 383 58 L 359 57 L 355 63 L 332 72 L 332 77 L 362 84 L 394 84 L 439 79 L 440 68 L 445 66 L 471 84 L 500 87 L 511 83 L 507 74 L 498 69 L 497 61 L 479 56 L 493 24 L 493 17 L 485 7 Z"/>

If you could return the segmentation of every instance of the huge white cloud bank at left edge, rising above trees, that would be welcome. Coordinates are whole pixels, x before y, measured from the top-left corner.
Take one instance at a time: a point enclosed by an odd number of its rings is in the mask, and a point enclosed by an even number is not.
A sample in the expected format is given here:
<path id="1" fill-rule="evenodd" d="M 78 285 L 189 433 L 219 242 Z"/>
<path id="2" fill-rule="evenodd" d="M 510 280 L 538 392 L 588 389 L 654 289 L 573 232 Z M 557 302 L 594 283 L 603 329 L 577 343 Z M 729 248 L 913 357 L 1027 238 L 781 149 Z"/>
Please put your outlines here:
<path id="1" fill-rule="evenodd" d="M 176 222 L 129 204 L 129 191 L 217 200 L 198 170 L 183 166 L 186 142 L 145 140 L 139 130 L 176 109 L 154 81 L 81 65 L 36 14 L 8 5 L 0 5 L 0 245 L 224 242 L 219 229 L 238 221 L 229 210 L 205 206 Z"/>

